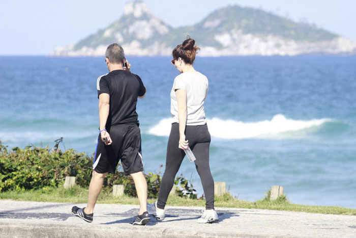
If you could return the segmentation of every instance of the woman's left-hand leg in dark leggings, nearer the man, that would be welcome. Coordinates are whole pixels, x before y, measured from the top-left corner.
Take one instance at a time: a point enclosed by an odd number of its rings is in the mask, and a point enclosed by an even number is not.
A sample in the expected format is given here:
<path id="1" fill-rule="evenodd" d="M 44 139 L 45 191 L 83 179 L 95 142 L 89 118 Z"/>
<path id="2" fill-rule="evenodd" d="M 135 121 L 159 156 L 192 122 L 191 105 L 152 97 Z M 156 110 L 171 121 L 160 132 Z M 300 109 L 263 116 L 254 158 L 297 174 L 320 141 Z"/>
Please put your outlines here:
<path id="1" fill-rule="evenodd" d="M 161 180 L 160 193 L 158 196 L 157 207 L 164 209 L 169 192 L 174 183 L 175 175 L 181 167 L 185 152 L 178 148 L 179 143 L 179 124 L 173 123 L 167 144 L 166 168 Z"/>

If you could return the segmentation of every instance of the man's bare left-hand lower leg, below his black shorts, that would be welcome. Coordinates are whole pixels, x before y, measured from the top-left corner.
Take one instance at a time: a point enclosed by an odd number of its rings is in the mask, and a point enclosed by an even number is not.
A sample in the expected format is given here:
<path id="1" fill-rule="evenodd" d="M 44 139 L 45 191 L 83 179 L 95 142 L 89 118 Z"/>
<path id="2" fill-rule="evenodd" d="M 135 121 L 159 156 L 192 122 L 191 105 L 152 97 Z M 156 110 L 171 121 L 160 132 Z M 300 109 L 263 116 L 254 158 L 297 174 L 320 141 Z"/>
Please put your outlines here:
<path id="1" fill-rule="evenodd" d="M 101 189 L 103 187 L 104 178 L 108 173 L 98 173 L 93 170 L 92 179 L 89 185 L 88 203 L 84 209 L 84 213 L 92 214 L 95 203 L 98 200 Z"/>

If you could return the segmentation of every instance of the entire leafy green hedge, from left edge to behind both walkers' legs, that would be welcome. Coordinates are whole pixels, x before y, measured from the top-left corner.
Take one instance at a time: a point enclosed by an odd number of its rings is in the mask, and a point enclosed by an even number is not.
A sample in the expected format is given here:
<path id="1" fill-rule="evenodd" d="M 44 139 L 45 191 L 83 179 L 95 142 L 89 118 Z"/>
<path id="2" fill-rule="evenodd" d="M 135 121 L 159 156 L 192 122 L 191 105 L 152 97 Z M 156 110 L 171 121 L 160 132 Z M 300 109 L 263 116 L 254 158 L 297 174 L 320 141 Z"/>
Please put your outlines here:
<path id="1" fill-rule="evenodd" d="M 46 187 L 58 187 L 64 183 L 66 176 L 75 176 L 76 184 L 87 188 L 93 171 L 94 156 L 79 153 L 74 149 L 62 151 L 58 144 L 62 138 L 55 141 L 53 149 L 48 146 L 36 147 L 26 146 L 24 149 L 18 147 L 8 151 L 0 141 L 0 192 L 15 190 L 37 190 Z M 131 176 L 126 176 L 121 171 L 119 163 L 115 174 L 108 174 L 104 180 L 104 189 L 112 191 L 114 184 L 123 184 L 124 193 L 136 196 L 135 184 Z M 147 181 L 148 198 L 157 198 L 159 194 L 161 176 L 159 174 L 147 173 L 144 175 Z M 175 184 L 181 185 L 177 189 L 180 196 L 196 198 L 195 190 L 188 184 L 188 180 L 177 177 Z"/>

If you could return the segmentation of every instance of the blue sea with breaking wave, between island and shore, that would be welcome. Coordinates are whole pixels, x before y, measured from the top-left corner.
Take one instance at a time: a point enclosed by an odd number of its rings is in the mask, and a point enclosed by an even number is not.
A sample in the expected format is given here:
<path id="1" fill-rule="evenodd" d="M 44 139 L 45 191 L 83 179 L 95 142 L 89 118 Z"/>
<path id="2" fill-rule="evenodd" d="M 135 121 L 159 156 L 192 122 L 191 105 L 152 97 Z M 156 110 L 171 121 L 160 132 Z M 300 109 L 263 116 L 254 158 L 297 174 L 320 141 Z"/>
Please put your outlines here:
<path id="1" fill-rule="evenodd" d="M 170 58 L 127 58 L 147 88 L 137 104 L 145 171 L 163 172 L 178 72 Z M 356 208 L 355 66 L 355 56 L 197 58 L 215 181 L 248 201 L 281 185 L 293 203 Z M 104 58 L 0 57 L 0 140 L 52 147 L 63 137 L 61 148 L 92 154 L 105 73 Z M 201 195 L 194 165 L 181 173 Z"/>

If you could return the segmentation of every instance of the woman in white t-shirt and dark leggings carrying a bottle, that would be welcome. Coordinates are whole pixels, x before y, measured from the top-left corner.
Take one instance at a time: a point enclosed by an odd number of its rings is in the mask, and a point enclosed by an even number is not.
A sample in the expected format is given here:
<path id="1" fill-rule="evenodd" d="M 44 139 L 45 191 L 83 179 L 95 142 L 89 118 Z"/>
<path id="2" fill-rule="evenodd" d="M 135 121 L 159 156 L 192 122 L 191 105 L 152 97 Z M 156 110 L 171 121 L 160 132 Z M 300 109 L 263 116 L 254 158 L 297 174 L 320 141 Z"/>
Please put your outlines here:
<path id="1" fill-rule="evenodd" d="M 164 207 L 174 183 L 185 149 L 192 149 L 196 157 L 195 167 L 201 179 L 205 194 L 205 210 L 198 223 L 218 221 L 214 210 L 214 180 L 209 167 L 210 133 L 207 129 L 204 101 L 208 90 L 206 76 L 193 67 L 196 51 L 195 40 L 188 38 L 177 45 L 172 52 L 172 64 L 181 73 L 176 76 L 170 92 L 170 110 L 173 123 L 168 139 L 166 168 L 161 181 L 158 201 L 147 205 L 147 210 L 156 219 L 165 217 Z"/>

